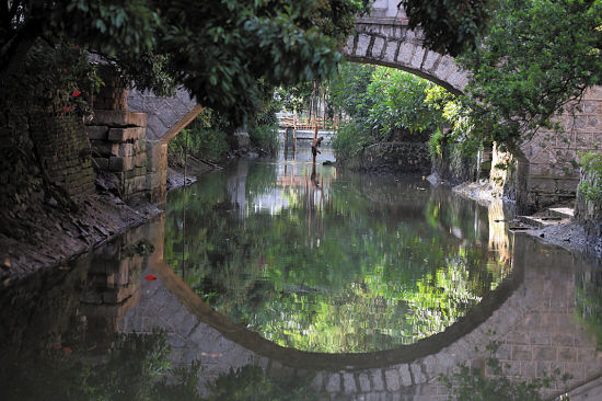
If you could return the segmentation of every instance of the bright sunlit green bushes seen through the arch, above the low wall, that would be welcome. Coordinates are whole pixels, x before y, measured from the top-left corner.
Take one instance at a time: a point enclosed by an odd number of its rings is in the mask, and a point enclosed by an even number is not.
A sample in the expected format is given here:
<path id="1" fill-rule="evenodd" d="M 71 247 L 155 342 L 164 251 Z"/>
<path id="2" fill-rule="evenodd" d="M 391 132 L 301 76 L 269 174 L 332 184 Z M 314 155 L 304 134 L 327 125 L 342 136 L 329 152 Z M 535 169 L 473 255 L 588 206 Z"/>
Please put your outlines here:
<path id="1" fill-rule="evenodd" d="M 454 96 L 412 73 L 343 64 L 329 87 L 335 111 L 350 117 L 333 141 L 339 159 L 380 141 L 424 140 L 424 134 L 447 125 L 458 133 L 454 140 L 466 136 L 463 115 L 451 113 Z"/>

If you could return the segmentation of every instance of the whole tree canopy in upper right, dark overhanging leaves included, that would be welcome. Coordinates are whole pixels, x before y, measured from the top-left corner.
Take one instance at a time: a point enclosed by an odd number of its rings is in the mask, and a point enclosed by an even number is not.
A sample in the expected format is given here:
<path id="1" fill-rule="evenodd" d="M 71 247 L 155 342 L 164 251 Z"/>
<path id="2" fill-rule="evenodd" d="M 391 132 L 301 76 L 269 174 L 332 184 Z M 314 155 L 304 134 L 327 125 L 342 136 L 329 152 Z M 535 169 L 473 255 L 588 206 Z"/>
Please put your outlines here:
<path id="1" fill-rule="evenodd" d="M 459 102 L 471 139 L 517 150 L 602 82 L 600 0 L 403 0 L 427 47 L 471 71 Z M 467 136 L 468 137 L 468 136 Z"/>

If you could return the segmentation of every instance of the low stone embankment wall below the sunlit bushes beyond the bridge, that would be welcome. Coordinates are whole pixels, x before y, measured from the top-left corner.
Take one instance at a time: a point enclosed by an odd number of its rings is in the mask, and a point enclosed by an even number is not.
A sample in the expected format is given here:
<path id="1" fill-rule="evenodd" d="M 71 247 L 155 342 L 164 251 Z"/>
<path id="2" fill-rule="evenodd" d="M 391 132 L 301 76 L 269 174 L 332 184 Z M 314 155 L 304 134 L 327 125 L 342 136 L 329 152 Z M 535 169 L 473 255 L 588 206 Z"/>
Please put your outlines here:
<path id="1" fill-rule="evenodd" d="M 426 144 L 375 144 L 345 163 L 351 170 L 375 173 L 422 173 L 430 171 L 430 156 Z"/>

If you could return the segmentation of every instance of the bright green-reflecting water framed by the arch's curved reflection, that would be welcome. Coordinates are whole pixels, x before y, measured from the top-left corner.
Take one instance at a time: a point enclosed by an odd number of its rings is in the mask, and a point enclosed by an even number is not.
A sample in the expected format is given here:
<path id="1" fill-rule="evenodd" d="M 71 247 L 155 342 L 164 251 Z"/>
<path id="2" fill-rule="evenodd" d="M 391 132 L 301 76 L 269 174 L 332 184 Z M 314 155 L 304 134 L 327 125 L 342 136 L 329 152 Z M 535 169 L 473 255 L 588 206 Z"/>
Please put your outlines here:
<path id="1" fill-rule="evenodd" d="M 294 160 L 245 160 L 172 192 L 165 261 L 279 345 L 371 352 L 443 331 L 501 282 L 509 261 L 489 249 L 488 225 L 449 191 L 314 168 L 300 145 Z"/>

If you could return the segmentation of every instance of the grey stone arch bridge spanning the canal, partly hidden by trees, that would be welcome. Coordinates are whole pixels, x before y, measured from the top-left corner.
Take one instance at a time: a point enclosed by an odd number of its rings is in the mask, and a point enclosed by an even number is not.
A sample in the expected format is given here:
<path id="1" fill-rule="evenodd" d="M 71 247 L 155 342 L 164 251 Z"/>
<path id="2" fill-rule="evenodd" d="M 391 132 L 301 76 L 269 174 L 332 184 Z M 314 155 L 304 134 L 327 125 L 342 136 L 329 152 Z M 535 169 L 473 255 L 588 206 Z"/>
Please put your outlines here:
<path id="1" fill-rule="evenodd" d="M 425 48 L 422 33 L 408 28 L 405 11 L 398 9 L 397 3 L 397 0 L 374 1 L 370 15 L 357 20 L 356 33 L 348 38 L 343 53 L 351 61 L 398 68 L 438 83 L 452 93 L 462 93 L 470 80 L 470 73 L 459 68 L 452 57 Z M 115 126 L 97 118 L 93 122 L 96 127 L 90 130 L 93 133 L 90 136 L 93 148 L 97 146 L 104 151 L 97 164 L 124 173 L 121 187 L 126 198 L 143 191 L 150 192 L 154 200 L 161 199 L 165 186 L 166 144 L 202 107 L 184 90 L 170 99 L 132 90 L 127 95 L 127 108 L 130 114 L 144 114 L 141 119 L 134 118 L 139 125 L 143 123 L 141 128 L 146 128 L 144 133 L 134 133 L 125 137 L 115 134 L 111 139 L 106 133 Z M 127 119 L 123 117 L 121 123 Z M 517 154 L 513 192 L 522 208 L 541 208 L 575 196 L 579 182 L 578 152 L 595 150 L 602 142 L 602 88 L 589 90 L 580 104 L 558 116 L 558 119 L 566 134 L 558 136 L 540 131 L 523 145 L 522 154 Z M 104 135 L 99 134 L 100 131 Z M 144 139 L 146 160 L 136 151 L 128 150 L 129 145 L 137 140 L 132 136 Z M 142 146 L 134 144 L 134 148 L 139 149 Z M 138 153 L 141 152 L 139 149 Z M 129 174 L 137 181 L 126 177 L 131 169 L 143 167 L 147 168 L 144 179 L 139 173 Z"/>

